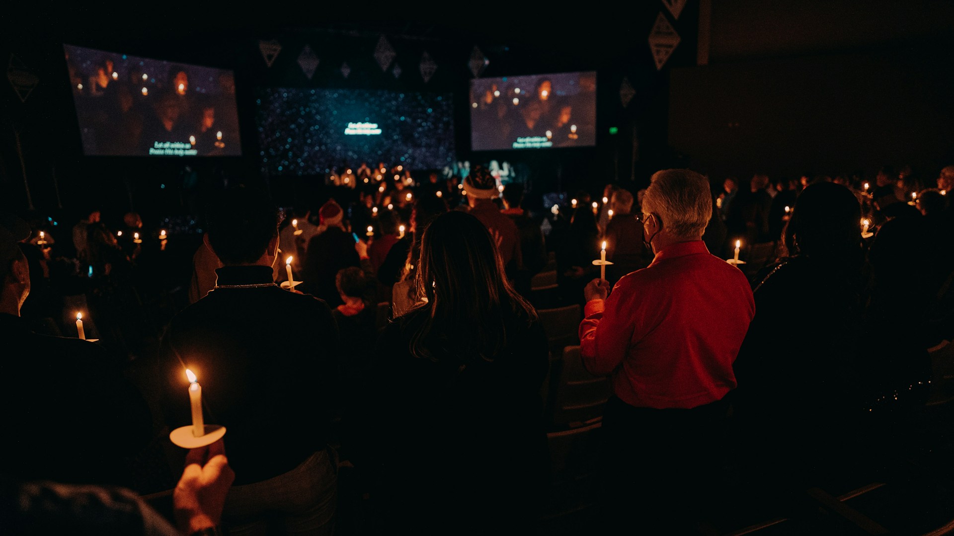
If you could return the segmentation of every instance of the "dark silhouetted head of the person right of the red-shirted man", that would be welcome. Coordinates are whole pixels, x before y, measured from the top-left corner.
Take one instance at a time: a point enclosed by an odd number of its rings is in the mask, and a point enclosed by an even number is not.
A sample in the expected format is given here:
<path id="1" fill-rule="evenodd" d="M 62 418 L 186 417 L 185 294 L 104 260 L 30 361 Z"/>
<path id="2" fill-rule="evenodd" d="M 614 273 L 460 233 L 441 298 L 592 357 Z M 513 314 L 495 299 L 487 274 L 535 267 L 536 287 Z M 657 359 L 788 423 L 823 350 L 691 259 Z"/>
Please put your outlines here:
<path id="1" fill-rule="evenodd" d="M 785 228 L 790 255 L 851 258 L 861 248 L 861 204 L 845 186 L 809 184 L 798 196 Z"/>

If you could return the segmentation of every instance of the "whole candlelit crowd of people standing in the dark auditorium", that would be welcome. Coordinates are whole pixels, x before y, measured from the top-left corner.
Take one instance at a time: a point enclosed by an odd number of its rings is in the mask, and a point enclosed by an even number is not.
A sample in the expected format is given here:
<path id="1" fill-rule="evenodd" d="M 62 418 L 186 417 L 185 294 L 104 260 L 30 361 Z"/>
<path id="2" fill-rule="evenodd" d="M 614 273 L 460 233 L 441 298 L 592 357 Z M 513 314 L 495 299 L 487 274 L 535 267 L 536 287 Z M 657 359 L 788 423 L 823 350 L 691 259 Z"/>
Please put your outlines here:
<path id="1" fill-rule="evenodd" d="M 4 214 L 0 529 L 537 533 L 564 335 L 538 312 L 574 304 L 612 384 L 594 533 L 713 533 L 890 481 L 935 441 L 954 362 L 952 186 L 671 169 L 536 214 L 480 165 L 363 165 L 284 210 L 219 191 L 175 269 L 178 237 L 135 213 L 72 237 Z M 196 382 L 227 431 L 187 450 Z"/>

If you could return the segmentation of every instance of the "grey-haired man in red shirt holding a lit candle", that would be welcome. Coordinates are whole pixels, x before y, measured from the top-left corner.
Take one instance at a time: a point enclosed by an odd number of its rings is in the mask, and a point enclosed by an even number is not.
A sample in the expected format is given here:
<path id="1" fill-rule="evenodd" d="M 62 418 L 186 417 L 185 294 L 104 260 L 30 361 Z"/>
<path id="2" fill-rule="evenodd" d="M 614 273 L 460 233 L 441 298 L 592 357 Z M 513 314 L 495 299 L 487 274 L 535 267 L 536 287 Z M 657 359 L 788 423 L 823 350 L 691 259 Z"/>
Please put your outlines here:
<path id="1" fill-rule="evenodd" d="M 710 216 L 705 177 L 657 172 L 641 218 L 653 262 L 620 278 L 609 297 L 604 279 L 584 289 L 583 362 L 612 379 L 602 428 L 613 525 L 676 533 L 713 505 L 706 488 L 720 468 L 725 396 L 736 388 L 732 365 L 755 301 L 745 276 L 702 242 Z"/>

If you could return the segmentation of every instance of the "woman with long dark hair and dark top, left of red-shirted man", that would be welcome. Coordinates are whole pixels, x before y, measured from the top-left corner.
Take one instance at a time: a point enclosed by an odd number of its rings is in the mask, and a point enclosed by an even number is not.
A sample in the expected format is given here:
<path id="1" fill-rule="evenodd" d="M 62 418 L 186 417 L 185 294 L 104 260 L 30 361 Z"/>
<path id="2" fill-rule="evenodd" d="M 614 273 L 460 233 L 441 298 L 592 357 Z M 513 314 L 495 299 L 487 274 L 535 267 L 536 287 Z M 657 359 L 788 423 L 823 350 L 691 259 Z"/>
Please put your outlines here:
<path id="1" fill-rule="evenodd" d="M 529 530 L 548 464 L 536 312 L 459 211 L 427 227 L 414 285 L 425 300 L 384 328 L 365 412 L 383 528 Z"/>

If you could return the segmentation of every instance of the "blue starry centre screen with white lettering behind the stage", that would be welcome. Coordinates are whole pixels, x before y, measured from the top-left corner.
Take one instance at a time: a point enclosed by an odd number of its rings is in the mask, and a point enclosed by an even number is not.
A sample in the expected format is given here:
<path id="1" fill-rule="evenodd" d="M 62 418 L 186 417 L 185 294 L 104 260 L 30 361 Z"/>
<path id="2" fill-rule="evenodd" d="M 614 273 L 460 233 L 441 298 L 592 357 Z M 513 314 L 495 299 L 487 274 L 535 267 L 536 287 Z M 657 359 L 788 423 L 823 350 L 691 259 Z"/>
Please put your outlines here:
<path id="1" fill-rule="evenodd" d="M 348 123 L 377 123 L 381 134 L 344 134 Z M 450 93 L 371 90 L 260 90 L 256 98 L 261 171 L 324 175 L 402 164 L 441 169 L 454 162 Z"/>

